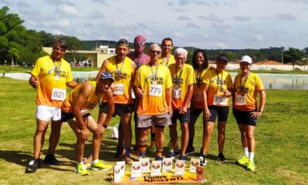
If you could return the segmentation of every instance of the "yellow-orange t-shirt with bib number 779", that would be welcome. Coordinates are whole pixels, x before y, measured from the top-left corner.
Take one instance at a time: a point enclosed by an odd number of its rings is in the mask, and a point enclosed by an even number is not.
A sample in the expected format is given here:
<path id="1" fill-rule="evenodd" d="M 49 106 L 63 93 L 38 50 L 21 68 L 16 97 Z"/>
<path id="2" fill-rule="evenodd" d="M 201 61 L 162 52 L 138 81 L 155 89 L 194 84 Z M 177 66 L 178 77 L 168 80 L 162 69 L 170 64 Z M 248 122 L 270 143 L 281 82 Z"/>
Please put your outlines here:
<path id="1" fill-rule="evenodd" d="M 153 80 L 156 67 L 153 66 L 153 73 L 150 64 L 142 65 L 137 71 L 134 85 L 144 91 L 144 98 L 140 100 L 137 114 L 160 115 L 167 113 L 166 89 L 172 88 L 172 78 L 168 67 L 158 65 L 156 81 Z"/>

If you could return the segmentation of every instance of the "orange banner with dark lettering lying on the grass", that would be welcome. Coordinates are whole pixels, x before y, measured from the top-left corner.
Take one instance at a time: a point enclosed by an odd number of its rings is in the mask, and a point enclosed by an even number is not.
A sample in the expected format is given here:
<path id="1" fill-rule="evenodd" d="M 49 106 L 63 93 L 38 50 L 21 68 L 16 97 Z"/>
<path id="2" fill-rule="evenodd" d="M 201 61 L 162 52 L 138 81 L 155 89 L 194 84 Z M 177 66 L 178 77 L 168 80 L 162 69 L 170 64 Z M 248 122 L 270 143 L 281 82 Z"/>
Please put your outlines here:
<path id="1" fill-rule="evenodd" d="M 196 180 L 196 174 L 186 170 L 183 175 L 176 175 L 174 172 L 162 172 L 161 175 L 151 176 L 148 173 L 143 173 L 141 177 L 131 178 L 130 172 L 125 172 L 125 177 L 122 181 L 111 181 L 112 184 L 169 184 L 169 183 L 200 183 Z M 111 174 L 113 179 L 113 174 Z"/>

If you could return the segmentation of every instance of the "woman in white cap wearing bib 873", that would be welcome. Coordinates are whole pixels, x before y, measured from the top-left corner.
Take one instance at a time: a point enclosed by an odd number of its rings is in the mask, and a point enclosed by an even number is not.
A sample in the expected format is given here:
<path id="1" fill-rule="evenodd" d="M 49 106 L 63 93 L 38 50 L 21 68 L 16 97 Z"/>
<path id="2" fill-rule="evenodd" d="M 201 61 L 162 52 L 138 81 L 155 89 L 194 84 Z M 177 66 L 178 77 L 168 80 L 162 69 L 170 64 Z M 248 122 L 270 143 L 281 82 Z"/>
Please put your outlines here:
<path id="1" fill-rule="evenodd" d="M 237 119 L 241 131 L 241 144 L 244 148 L 244 156 L 237 163 L 246 165 L 247 170 L 255 170 L 253 163 L 255 151 L 255 124 L 257 118 L 262 114 L 265 107 L 265 88 L 258 74 L 250 71 L 251 57 L 241 57 L 239 67 L 241 73 L 235 76 L 233 86 L 233 114 Z M 258 93 L 260 94 L 260 107 L 258 109 Z"/>

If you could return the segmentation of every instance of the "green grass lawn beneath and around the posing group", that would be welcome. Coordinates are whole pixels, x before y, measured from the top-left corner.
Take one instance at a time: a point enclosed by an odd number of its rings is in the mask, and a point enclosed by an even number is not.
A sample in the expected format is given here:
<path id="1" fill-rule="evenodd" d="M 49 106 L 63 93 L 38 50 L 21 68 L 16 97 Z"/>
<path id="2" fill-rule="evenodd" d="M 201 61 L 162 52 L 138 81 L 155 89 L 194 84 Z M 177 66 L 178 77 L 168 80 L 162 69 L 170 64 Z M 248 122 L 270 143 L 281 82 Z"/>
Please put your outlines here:
<path id="1" fill-rule="evenodd" d="M 0 184 L 110 184 L 109 172 L 90 171 L 87 177 L 73 173 L 76 137 L 67 123 L 62 126 L 56 153 L 63 165 L 43 164 L 36 173 L 25 174 L 25 167 L 33 156 L 36 90 L 27 81 L 10 78 L 0 78 L 0 86 Z M 235 118 L 230 114 L 224 152 L 229 163 L 216 160 L 218 146 L 217 132 L 214 132 L 205 167 L 208 184 L 308 184 L 307 99 L 307 90 L 267 90 L 265 111 L 255 131 L 255 172 L 248 172 L 235 164 L 242 149 Z M 97 109 L 92 115 L 97 116 Z M 111 125 L 118 120 L 117 116 Z M 48 149 L 49 133 L 50 130 L 45 137 L 41 158 Z M 168 129 L 165 135 L 167 142 Z M 200 118 L 196 123 L 196 151 L 200 150 L 201 140 Z M 118 160 L 113 158 L 116 144 L 117 141 L 111 139 L 111 131 L 106 131 L 100 158 L 110 163 Z M 87 142 L 86 156 L 90 148 L 91 142 Z M 153 157 L 152 154 L 149 156 Z"/>

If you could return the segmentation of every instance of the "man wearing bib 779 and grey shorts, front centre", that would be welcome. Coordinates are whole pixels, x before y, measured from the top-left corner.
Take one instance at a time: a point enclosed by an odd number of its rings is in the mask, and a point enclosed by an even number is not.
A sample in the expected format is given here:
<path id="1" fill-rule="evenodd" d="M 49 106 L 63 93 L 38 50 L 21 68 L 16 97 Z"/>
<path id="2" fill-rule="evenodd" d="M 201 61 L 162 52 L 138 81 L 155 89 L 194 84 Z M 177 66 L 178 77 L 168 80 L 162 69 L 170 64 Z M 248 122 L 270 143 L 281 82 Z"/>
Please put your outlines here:
<path id="1" fill-rule="evenodd" d="M 156 157 L 162 160 L 164 128 L 171 124 L 172 116 L 172 78 L 169 69 L 158 62 L 162 52 L 158 44 L 150 46 L 151 61 L 139 68 L 134 81 L 135 94 L 139 97 L 137 126 L 141 128 L 139 151 L 146 157 L 148 133 L 152 124 L 156 131 Z"/>

